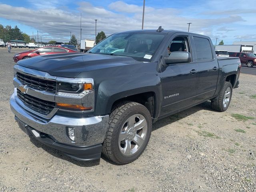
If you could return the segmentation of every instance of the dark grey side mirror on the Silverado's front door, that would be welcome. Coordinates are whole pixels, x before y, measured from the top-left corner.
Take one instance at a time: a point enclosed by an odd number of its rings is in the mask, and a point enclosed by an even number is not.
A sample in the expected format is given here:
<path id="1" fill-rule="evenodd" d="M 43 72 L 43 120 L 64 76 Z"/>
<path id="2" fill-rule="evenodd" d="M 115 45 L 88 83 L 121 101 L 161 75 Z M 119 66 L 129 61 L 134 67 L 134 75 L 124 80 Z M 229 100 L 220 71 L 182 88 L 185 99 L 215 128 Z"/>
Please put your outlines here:
<path id="1" fill-rule="evenodd" d="M 169 57 L 164 57 L 166 64 L 178 64 L 178 63 L 189 63 L 191 62 L 190 52 L 174 51 L 171 52 Z"/>

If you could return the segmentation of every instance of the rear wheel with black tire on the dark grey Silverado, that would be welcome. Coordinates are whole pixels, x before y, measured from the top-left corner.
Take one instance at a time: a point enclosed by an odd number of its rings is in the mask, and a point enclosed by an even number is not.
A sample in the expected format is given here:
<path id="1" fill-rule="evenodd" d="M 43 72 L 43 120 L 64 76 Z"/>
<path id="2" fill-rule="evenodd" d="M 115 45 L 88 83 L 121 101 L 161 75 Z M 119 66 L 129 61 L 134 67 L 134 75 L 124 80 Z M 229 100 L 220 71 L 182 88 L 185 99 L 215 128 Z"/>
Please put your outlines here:
<path id="1" fill-rule="evenodd" d="M 227 101 L 227 94 L 229 90 L 230 90 L 230 97 Z M 228 109 L 228 106 L 232 98 L 232 90 L 233 90 L 232 84 L 226 81 L 219 96 L 211 100 L 212 109 L 220 112 L 226 111 Z M 224 101 L 224 99 L 226 102 Z"/>

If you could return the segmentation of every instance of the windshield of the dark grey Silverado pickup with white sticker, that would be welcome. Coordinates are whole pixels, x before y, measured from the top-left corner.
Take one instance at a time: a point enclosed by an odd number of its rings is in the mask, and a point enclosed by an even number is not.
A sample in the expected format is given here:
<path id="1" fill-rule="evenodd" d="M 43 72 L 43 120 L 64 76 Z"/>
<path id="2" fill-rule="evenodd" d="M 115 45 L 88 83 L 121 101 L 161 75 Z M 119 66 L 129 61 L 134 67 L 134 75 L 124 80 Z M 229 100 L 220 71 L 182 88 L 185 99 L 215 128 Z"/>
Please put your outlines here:
<path id="1" fill-rule="evenodd" d="M 118 33 L 98 43 L 89 53 L 132 57 L 138 61 L 150 61 L 164 39 L 164 34 Z"/>

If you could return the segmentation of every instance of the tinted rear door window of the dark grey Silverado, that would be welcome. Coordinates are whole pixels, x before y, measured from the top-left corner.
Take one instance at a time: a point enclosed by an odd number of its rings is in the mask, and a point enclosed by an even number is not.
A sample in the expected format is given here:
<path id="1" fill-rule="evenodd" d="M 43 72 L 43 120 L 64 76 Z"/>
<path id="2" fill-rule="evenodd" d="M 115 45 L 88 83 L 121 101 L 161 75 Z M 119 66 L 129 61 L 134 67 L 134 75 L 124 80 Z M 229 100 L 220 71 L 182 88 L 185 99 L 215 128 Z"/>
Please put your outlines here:
<path id="1" fill-rule="evenodd" d="M 198 62 L 210 61 L 212 57 L 211 44 L 208 39 L 194 37 Z"/>

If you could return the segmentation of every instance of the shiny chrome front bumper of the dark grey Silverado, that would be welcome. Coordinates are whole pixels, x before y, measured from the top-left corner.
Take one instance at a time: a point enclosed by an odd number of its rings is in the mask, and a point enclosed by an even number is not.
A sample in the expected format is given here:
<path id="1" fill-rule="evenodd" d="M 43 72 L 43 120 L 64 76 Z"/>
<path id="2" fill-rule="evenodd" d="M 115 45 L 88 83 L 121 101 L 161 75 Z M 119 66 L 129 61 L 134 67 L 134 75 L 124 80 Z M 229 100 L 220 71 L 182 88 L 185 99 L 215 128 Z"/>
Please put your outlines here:
<path id="1" fill-rule="evenodd" d="M 54 115 L 50 120 L 42 119 L 22 108 L 14 94 L 10 98 L 10 108 L 19 120 L 31 128 L 52 136 L 58 143 L 72 146 L 86 147 L 103 143 L 108 126 L 108 115 L 88 118 Z M 68 137 L 67 127 L 75 128 L 75 142 Z"/>

